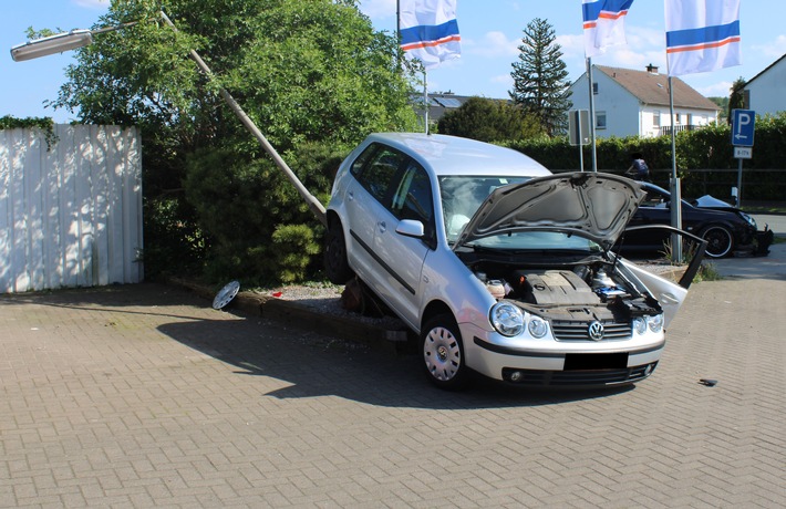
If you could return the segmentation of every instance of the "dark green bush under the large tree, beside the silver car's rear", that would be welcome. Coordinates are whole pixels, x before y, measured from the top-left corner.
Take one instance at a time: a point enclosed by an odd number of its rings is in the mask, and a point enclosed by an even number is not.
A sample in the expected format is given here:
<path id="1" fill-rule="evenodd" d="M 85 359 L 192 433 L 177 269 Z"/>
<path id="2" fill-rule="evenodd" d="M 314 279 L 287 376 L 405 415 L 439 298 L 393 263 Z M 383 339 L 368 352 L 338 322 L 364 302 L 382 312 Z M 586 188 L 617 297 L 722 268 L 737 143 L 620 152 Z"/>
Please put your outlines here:
<path id="1" fill-rule="evenodd" d="M 347 152 L 303 144 L 285 159 L 306 188 L 327 202 Z M 267 285 L 302 281 L 320 270 L 322 225 L 269 158 L 245 160 L 229 150 L 205 150 L 187 166 L 186 197 L 209 238 L 209 280 Z"/>

